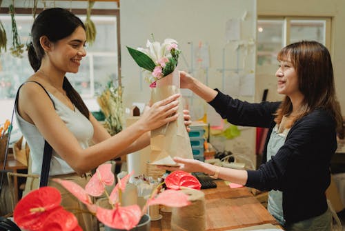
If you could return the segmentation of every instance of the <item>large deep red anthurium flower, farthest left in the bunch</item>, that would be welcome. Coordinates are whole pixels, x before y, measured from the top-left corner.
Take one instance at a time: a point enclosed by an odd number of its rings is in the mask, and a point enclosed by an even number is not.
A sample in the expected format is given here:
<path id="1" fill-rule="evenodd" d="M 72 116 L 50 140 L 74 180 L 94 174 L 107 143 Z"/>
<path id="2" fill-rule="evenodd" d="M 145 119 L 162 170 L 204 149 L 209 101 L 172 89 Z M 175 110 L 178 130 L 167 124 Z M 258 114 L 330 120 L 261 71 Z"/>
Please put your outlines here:
<path id="1" fill-rule="evenodd" d="M 15 223 L 25 230 L 40 230 L 46 218 L 54 210 L 61 210 L 61 194 L 52 187 L 33 190 L 23 197 L 14 208 Z"/>

